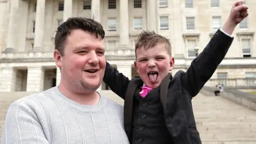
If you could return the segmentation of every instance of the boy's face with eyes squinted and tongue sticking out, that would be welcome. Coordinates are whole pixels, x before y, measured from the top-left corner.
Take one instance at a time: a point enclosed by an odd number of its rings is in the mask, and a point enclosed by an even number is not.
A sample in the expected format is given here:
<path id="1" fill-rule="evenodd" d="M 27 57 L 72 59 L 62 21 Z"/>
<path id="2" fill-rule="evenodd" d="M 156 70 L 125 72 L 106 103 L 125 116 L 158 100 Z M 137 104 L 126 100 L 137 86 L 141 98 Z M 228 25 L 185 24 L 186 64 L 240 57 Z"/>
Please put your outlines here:
<path id="1" fill-rule="evenodd" d="M 155 88 L 173 69 L 174 59 L 168 54 L 165 44 L 157 44 L 148 50 L 144 47 L 136 51 L 134 66 L 145 85 Z"/>

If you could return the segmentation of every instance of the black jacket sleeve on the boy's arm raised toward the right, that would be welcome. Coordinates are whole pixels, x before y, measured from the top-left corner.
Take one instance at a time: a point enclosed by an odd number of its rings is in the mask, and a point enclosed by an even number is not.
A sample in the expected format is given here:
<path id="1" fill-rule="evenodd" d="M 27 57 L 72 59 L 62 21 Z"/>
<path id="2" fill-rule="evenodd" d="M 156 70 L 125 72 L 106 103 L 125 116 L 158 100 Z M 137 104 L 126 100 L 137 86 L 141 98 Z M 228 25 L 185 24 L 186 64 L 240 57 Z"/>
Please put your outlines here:
<path id="1" fill-rule="evenodd" d="M 195 97 L 211 78 L 220 62 L 225 58 L 233 39 L 234 37 L 230 37 L 218 29 L 203 52 L 191 62 L 181 81 L 183 87 L 192 97 Z"/>

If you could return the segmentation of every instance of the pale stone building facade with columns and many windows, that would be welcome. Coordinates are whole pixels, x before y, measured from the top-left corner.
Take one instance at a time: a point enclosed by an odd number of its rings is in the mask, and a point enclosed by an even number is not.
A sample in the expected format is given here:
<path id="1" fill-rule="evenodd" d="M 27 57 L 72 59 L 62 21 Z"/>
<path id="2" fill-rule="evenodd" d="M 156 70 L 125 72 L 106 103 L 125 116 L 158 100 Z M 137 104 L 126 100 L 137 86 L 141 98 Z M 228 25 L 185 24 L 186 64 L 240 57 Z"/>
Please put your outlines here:
<path id="1" fill-rule="evenodd" d="M 0 91 L 43 91 L 60 82 L 54 31 L 69 17 L 94 17 L 106 31 L 106 59 L 132 78 L 141 30 L 169 39 L 175 74 L 185 70 L 227 20 L 234 0 L 0 0 Z M 226 58 L 211 79 L 248 84 L 256 76 L 256 6 L 235 29 Z M 240 80 L 239 80 L 240 79 Z M 217 84 L 209 81 L 208 85 Z M 255 82 L 250 83 L 254 85 Z M 225 85 L 228 85 L 225 81 Z M 102 84 L 99 89 L 108 87 Z"/>

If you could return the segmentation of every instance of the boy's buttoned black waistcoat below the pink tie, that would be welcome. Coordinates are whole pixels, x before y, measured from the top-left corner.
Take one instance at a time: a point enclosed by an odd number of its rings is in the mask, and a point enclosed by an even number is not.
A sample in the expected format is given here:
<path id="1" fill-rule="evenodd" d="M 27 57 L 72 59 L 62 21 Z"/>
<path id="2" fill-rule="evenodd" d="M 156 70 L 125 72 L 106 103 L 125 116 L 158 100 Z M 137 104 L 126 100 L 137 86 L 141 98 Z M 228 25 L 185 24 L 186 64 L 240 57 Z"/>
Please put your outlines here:
<path id="1" fill-rule="evenodd" d="M 159 98 L 159 87 L 151 90 L 145 98 L 141 98 L 137 89 L 133 98 L 132 143 L 168 143 L 171 136 L 165 126 L 164 111 Z"/>

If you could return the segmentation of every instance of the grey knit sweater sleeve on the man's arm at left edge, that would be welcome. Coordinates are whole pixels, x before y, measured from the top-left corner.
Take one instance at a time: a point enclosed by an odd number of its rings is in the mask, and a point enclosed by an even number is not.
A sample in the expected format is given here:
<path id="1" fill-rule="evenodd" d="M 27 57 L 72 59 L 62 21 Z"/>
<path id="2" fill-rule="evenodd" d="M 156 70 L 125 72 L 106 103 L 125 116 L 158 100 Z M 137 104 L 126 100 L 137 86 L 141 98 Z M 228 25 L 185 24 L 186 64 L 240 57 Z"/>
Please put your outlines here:
<path id="1" fill-rule="evenodd" d="M 2 144 L 49 143 L 33 108 L 15 101 L 7 111 L 3 127 Z"/>

